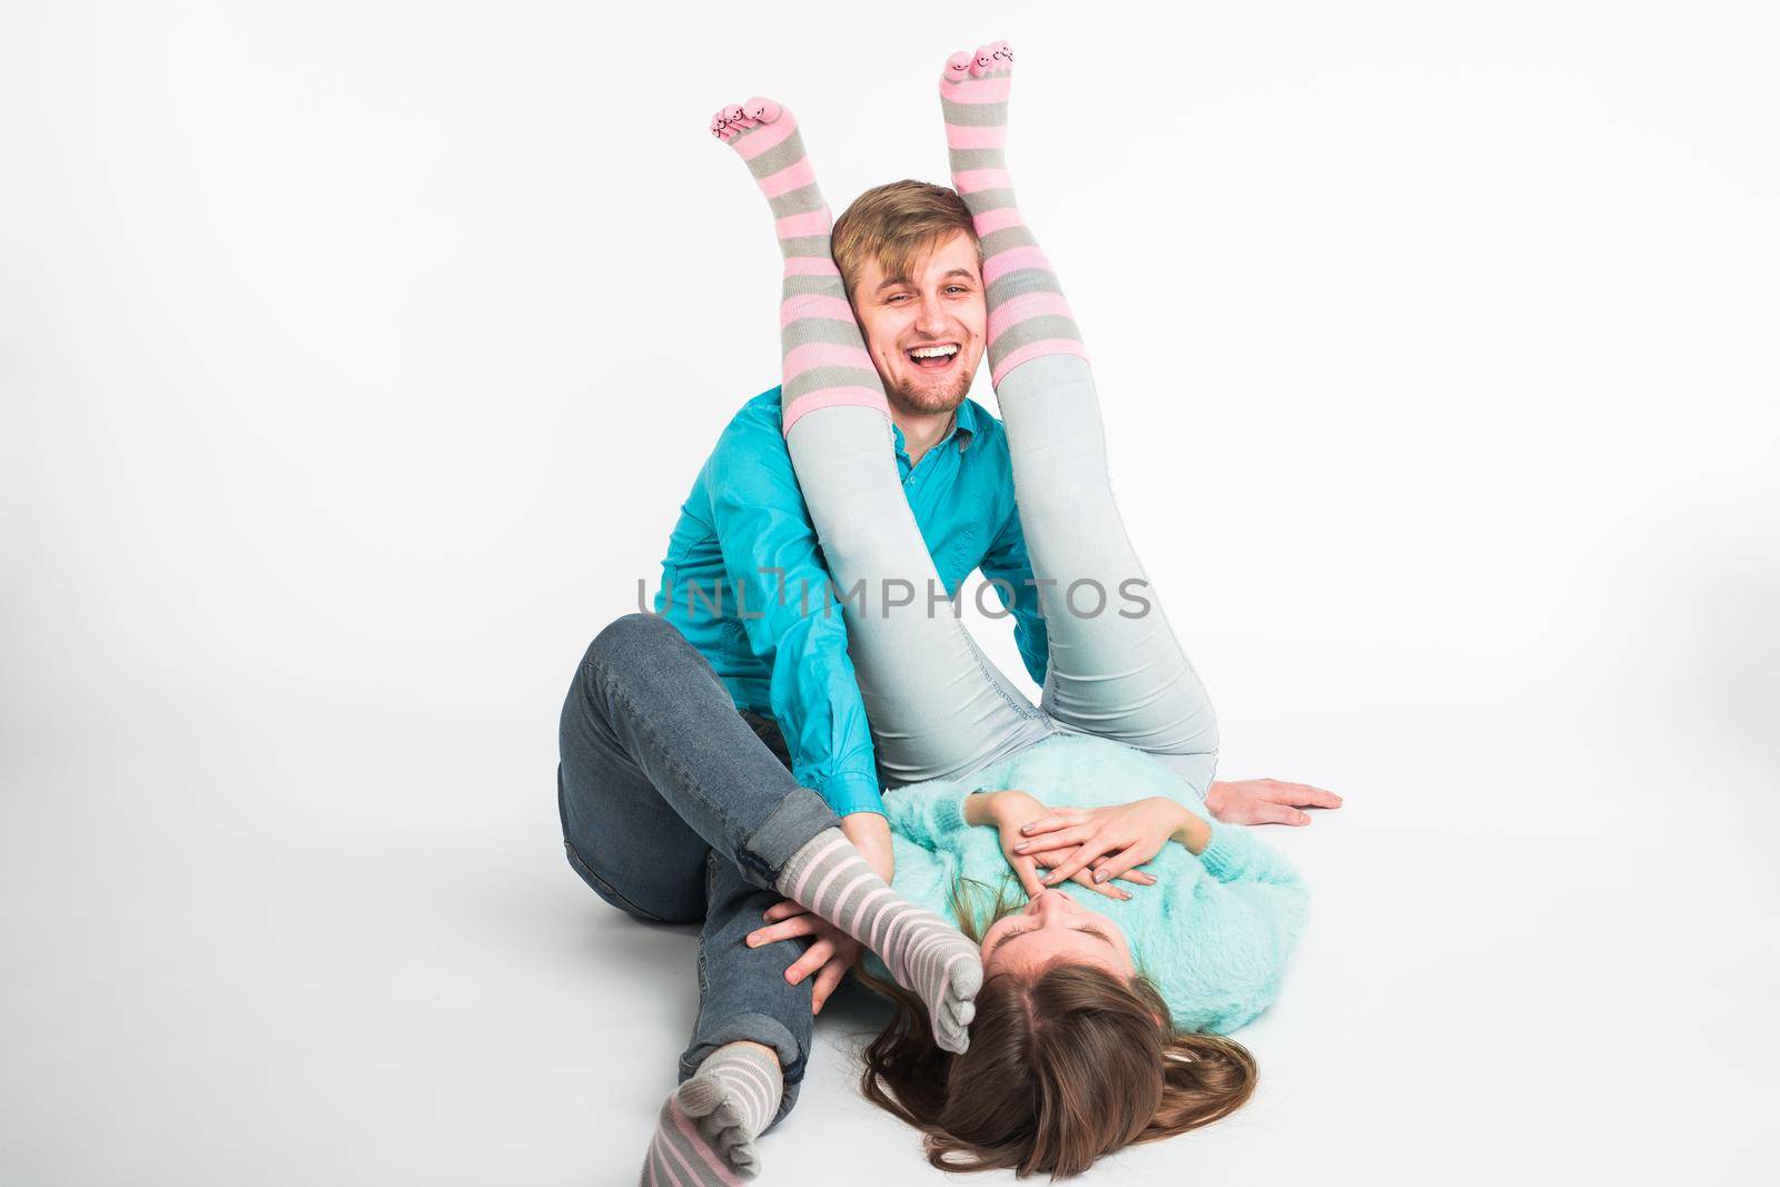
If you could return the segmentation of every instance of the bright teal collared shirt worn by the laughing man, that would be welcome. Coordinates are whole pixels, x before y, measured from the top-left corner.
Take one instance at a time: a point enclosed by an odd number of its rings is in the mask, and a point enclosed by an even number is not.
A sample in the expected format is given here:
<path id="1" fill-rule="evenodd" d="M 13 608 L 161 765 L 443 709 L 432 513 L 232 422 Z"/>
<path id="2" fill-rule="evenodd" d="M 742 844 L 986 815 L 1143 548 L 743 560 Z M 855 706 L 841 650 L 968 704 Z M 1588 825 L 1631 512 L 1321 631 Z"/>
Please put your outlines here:
<path id="1" fill-rule="evenodd" d="M 1006 582 L 993 585 L 995 594 L 1013 614 L 1027 673 L 1043 683 L 1045 618 L 1000 422 L 965 400 L 952 431 L 920 464 L 910 464 L 901 429 L 895 452 L 902 493 L 945 593 L 956 596 L 979 568 Z M 918 598 L 917 591 L 922 605 Z M 710 660 L 737 708 L 778 721 L 801 785 L 838 815 L 883 812 L 847 626 L 780 434 L 778 388 L 742 406 L 698 472 L 668 539 L 655 612 Z"/>

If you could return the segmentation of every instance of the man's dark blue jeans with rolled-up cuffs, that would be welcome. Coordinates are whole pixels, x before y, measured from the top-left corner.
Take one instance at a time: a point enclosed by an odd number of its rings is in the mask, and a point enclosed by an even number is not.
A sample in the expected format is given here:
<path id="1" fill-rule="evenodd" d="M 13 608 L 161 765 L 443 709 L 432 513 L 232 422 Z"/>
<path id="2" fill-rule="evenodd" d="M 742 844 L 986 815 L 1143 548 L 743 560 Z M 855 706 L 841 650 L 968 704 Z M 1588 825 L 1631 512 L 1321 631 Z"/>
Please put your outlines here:
<path id="1" fill-rule="evenodd" d="M 582 657 L 562 705 L 557 804 L 570 865 L 621 911 L 703 924 L 698 1023 L 680 1078 L 724 1043 L 778 1052 L 790 1112 L 810 1052 L 808 940 L 749 949 L 785 861 L 840 820 L 792 779 L 710 662 L 666 619 L 627 614 Z M 780 742 L 783 747 L 783 742 Z M 774 1118 L 776 1121 L 778 1118 Z"/>

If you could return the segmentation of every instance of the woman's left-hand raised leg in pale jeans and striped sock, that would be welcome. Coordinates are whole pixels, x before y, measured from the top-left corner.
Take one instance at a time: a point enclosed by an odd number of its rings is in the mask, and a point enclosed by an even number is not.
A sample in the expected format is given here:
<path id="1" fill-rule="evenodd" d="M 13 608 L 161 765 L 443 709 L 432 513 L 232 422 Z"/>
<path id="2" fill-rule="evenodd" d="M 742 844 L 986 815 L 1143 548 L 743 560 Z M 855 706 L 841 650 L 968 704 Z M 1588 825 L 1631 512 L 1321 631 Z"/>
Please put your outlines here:
<path id="1" fill-rule="evenodd" d="M 785 256 L 783 429 L 844 610 L 847 653 L 892 785 L 954 776 L 1052 731 L 945 602 L 895 464 L 890 404 L 829 254 L 831 219 L 797 121 L 771 100 L 724 109 L 712 132 L 748 162 Z M 915 598 L 890 605 L 886 582 Z M 901 591 L 899 591 L 901 593 Z M 936 603 L 929 600 L 929 593 Z"/>

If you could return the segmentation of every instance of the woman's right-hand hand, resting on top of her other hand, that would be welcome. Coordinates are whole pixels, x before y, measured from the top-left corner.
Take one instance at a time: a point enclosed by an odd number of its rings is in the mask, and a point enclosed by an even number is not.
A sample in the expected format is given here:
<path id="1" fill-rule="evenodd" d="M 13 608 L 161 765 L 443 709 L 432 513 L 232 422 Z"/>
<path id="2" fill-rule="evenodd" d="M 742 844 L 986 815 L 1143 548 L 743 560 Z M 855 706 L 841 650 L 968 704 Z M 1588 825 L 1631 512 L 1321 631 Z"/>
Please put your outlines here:
<path id="1" fill-rule="evenodd" d="M 1111 808 L 1059 808 L 1024 822 L 1020 833 L 1024 840 L 1013 851 L 1022 858 L 1064 854 L 1054 861 L 1056 868 L 1045 877 L 1047 886 L 1088 868 L 1093 870 L 1091 884 L 1096 886 L 1114 877 L 1130 877 L 1137 872 L 1136 867 L 1162 852 L 1162 845 L 1171 840 L 1193 852 L 1210 844 L 1210 826 L 1162 795 Z M 1045 858 L 1040 856 L 1040 861 Z"/>

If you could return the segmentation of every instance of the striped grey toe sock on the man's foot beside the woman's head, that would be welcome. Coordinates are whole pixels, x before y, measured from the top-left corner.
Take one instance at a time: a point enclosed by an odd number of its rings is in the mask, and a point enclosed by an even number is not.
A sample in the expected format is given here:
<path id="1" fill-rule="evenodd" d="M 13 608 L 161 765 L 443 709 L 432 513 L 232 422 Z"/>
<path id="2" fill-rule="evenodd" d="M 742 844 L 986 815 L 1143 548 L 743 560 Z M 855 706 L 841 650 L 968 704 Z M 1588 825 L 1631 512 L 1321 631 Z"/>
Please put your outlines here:
<path id="1" fill-rule="evenodd" d="M 792 854 L 776 890 L 883 957 L 895 982 L 927 1004 L 934 1041 L 949 1052 L 965 1050 L 983 988 L 977 945 L 890 890 L 838 828 L 822 829 Z"/>

